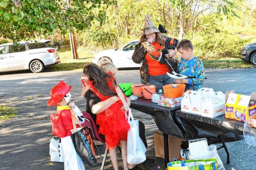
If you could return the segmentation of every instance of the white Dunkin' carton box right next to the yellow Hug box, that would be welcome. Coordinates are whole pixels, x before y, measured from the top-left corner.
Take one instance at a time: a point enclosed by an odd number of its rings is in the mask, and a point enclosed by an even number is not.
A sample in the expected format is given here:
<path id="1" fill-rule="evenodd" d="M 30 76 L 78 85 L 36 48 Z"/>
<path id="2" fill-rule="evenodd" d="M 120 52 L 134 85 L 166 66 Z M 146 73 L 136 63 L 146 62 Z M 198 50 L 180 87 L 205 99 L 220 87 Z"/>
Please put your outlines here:
<path id="1" fill-rule="evenodd" d="M 201 115 L 214 118 L 225 114 L 225 99 L 220 100 L 218 97 L 206 98 L 202 103 Z"/>

